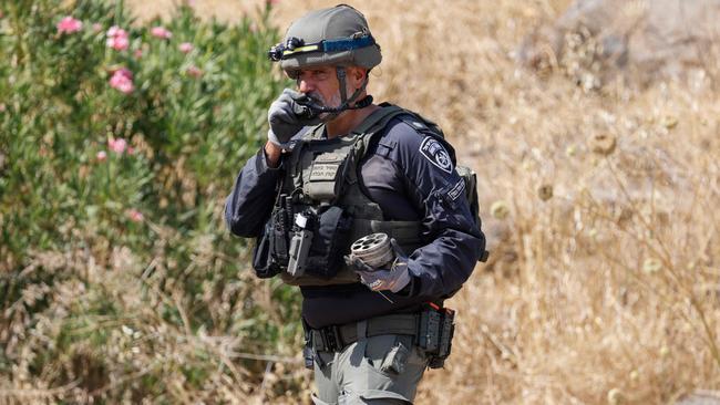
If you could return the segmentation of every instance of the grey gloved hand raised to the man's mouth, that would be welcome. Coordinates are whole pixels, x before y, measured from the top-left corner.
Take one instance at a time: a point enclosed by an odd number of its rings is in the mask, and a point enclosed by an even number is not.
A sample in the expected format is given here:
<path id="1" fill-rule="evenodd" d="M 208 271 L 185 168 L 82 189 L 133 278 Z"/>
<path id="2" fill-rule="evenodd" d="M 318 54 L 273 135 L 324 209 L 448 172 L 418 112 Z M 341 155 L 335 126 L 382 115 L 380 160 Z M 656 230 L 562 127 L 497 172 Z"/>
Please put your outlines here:
<path id="1" fill-rule="evenodd" d="M 268 139 L 271 143 L 280 147 L 286 147 L 288 142 L 290 142 L 290 138 L 302 129 L 304 126 L 320 123 L 320 120 L 318 118 L 302 120 L 296 115 L 296 100 L 302 96 L 302 93 L 285 89 L 282 94 L 270 104 L 267 118 L 270 124 L 270 129 L 268 129 Z"/>

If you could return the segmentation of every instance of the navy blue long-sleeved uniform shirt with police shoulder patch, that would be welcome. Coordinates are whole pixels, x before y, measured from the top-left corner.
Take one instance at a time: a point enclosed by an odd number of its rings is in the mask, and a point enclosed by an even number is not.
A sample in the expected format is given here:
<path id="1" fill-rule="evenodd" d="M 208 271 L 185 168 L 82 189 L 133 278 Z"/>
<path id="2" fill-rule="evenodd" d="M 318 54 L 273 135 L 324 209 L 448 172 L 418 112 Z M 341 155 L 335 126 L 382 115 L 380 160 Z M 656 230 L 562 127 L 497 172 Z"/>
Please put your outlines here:
<path id="1" fill-rule="evenodd" d="M 257 237 L 270 216 L 282 168 L 267 166 L 263 149 L 251 157 L 227 197 L 225 217 L 230 231 Z M 485 238 L 476 228 L 442 143 L 399 118 L 376 135 L 359 165 L 363 190 L 387 220 L 418 220 L 428 245 L 409 256 L 412 284 L 407 294 L 383 291 L 393 303 L 361 283 L 301 287 L 302 315 L 312 328 L 343 324 L 394 312 L 456 291 L 473 271 Z"/>

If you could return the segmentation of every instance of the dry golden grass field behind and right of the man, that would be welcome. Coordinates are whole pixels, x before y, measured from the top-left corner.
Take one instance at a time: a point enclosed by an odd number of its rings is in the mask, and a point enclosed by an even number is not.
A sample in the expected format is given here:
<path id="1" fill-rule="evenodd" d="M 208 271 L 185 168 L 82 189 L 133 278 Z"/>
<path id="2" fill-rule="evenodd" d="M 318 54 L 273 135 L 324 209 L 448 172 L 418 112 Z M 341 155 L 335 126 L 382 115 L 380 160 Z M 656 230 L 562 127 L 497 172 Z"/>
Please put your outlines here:
<path id="1" fill-rule="evenodd" d="M 280 1 L 275 21 L 335 3 Z M 382 45 L 376 100 L 439 122 L 479 174 L 491 259 L 450 302 L 453 355 L 418 403 L 659 404 L 720 388 L 716 76 L 585 91 L 562 66 L 517 68 L 512 52 L 567 0 L 349 3 Z M 253 7 L 195 2 L 229 21 Z"/>

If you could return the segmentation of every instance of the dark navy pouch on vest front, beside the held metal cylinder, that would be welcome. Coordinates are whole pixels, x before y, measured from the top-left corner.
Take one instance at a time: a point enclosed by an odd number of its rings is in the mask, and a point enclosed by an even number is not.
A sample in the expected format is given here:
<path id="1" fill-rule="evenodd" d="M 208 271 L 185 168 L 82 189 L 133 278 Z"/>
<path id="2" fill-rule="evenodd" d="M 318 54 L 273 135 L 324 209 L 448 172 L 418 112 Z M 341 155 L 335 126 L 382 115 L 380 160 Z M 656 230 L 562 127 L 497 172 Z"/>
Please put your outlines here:
<path id="1" fill-rule="evenodd" d="M 308 273 L 329 279 L 343 264 L 342 253 L 349 249 L 352 219 L 337 206 L 328 206 L 318 215 L 315 237 L 307 260 Z"/>

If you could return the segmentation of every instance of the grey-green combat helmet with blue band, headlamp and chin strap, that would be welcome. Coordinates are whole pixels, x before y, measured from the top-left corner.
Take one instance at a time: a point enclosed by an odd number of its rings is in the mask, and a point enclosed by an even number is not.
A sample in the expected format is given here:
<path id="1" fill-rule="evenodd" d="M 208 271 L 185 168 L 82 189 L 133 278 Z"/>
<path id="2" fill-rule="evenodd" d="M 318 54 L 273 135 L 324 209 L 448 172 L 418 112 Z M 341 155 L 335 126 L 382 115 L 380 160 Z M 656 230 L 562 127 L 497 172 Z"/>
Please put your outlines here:
<path id="1" fill-rule="evenodd" d="M 348 104 L 368 84 L 366 79 L 363 85 L 347 97 L 344 68 L 361 66 L 371 70 L 382 61 L 380 45 L 370 33 L 364 15 L 347 4 L 315 10 L 294 21 L 282 42 L 270 48 L 268 58 L 280 62 L 280 68 L 292 79 L 297 79 L 300 69 L 335 65 L 341 101 L 340 107 L 332 108 L 336 113 L 353 108 Z M 372 98 L 362 102 L 356 107 L 370 104 Z"/>

